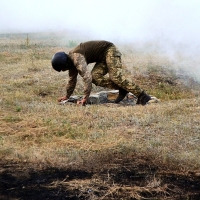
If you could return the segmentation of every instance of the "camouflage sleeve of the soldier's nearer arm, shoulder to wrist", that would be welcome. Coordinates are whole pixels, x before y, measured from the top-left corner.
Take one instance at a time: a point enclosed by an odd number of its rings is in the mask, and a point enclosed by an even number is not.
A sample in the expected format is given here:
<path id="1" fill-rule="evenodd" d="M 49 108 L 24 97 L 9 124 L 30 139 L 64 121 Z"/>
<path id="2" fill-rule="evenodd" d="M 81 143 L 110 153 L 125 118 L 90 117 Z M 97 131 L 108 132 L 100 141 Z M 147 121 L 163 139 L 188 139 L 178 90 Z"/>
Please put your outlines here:
<path id="1" fill-rule="evenodd" d="M 70 57 L 78 70 L 78 73 L 83 78 L 84 82 L 84 97 L 88 98 L 92 90 L 92 75 L 87 69 L 85 57 L 80 53 L 71 53 Z"/>

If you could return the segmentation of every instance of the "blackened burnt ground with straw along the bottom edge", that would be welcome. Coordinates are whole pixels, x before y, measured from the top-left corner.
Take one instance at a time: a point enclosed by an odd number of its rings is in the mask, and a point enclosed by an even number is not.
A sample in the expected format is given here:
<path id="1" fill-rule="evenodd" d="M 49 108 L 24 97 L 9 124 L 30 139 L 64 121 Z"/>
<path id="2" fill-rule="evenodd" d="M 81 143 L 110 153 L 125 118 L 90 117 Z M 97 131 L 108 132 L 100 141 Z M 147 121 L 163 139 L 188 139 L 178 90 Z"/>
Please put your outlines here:
<path id="1" fill-rule="evenodd" d="M 98 171 L 0 160 L 0 199 L 200 199 L 200 175 L 162 171 L 148 161 Z"/>

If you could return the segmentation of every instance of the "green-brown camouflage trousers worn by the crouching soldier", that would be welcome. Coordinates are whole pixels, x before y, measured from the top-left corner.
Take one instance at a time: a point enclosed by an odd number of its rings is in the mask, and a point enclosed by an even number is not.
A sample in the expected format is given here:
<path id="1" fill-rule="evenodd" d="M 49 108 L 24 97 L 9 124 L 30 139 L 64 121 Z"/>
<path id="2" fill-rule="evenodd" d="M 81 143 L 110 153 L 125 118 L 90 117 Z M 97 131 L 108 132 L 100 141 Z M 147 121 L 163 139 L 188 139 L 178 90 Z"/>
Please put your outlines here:
<path id="1" fill-rule="evenodd" d="M 115 46 L 108 49 L 104 61 L 96 63 L 91 73 L 92 82 L 97 86 L 117 90 L 123 88 L 137 97 L 143 91 L 133 82 L 130 75 L 125 75 L 121 53 Z"/>

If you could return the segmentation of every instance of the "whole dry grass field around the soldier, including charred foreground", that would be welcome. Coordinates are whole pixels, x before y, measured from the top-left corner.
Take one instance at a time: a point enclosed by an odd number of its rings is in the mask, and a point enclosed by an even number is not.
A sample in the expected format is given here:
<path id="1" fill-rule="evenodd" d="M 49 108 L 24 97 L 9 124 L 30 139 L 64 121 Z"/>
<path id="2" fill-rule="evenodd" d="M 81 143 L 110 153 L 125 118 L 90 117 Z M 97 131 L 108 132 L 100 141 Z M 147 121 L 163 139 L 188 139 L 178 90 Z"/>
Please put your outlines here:
<path id="1" fill-rule="evenodd" d="M 162 54 L 122 46 L 160 103 L 59 105 L 68 77 L 51 57 L 78 42 L 0 35 L 0 199 L 200 199 L 199 83 Z"/>

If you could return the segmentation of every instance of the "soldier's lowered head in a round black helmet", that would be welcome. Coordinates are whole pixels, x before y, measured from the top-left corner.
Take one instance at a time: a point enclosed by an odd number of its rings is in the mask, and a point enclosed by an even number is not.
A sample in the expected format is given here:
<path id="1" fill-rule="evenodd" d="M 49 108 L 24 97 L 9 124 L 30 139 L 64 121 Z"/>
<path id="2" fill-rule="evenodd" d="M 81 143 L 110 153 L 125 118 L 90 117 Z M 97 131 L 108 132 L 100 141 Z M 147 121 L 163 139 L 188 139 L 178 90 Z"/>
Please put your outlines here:
<path id="1" fill-rule="evenodd" d="M 66 70 L 69 70 L 70 68 L 69 60 L 70 58 L 65 52 L 57 52 L 52 57 L 51 65 L 58 72 L 66 71 Z"/>

